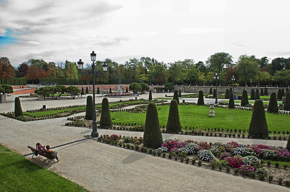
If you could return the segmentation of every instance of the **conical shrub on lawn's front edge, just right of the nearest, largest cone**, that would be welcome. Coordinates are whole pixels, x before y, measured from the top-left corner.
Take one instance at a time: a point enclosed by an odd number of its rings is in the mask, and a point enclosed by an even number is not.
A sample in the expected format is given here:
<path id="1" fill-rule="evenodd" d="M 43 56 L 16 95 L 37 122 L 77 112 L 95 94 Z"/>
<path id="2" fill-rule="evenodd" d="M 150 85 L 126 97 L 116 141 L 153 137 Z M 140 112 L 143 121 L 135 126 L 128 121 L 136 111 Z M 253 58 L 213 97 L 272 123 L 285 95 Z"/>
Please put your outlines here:
<path id="1" fill-rule="evenodd" d="M 167 120 L 166 131 L 179 133 L 181 131 L 181 124 L 179 119 L 178 105 L 176 100 L 171 100 L 169 107 L 169 115 Z"/>

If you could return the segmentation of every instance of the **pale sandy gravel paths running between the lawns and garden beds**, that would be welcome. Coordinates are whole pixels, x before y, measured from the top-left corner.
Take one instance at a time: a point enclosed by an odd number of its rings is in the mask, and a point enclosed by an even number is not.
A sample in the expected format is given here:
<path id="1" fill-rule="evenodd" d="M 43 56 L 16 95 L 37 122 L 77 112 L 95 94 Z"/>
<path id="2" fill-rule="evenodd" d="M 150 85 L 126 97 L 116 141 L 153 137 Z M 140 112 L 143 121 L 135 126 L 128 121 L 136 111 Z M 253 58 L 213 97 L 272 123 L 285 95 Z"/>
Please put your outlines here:
<path id="1" fill-rule="evenodd" d="M 173 95 L 173 93 L 166 93 Z M 8 103 L 0 104 L 0 112 L 14 111 L 14 99 L 19 95 L 7 97 Z M 20 98 L 23 111 L 40 109 L 42 105 L 62 107 L 68 105 L 85 105 L 86 96 L 76 97 L 75 100 L 45 100 L 37 98 Z M 148 99 L 149 94 L 140 95 L 139 98 Z M 152 94 L 153 98 L 164 97 L 165 94 Z M 96 103 L 102 102 L 102 97 L 96 97 Z M 122 98 L 127 100 L 128 98 Z M 131 98 L 129 98 L 131 99 Z M 185 101 L 197 102 L 198 98 L 187 98 Z M 119 101 L 120 98 L 108 98 L 109 101 Z M 182 102 L 182 100 L 180 100 Z M 205 103 L 214 99 L 204 99 Z M 209 109 L 210 110 L 210 109 Z M 84 115 L 79 113 L 77 115 Z M 76 116 L 76 115 L 72 115 Z M 91 129 L 84 127 L 64 126 L 67 118 L 55 118 L 32 122 L 0 116 L 0 143 L 8 148 L 19 151 L 21 154 L 30 154 L 27 146 L 35 146 L 37 142 L 55 147 L 58 152 L 59 163 L 46 166 L 44 157 L 37 157 L 33 161 L 58 172 L 61 176 L 76 182 L 90 191 L 290 191 L 289 188 L 276 184 L 269 184 L 259 180 L 234 176 L 223 172 L 213 171 L 202 167 L 171 161 L 99 143 L 93 139 L 85 139 Z M 142 136 L 143 132 L 117 131 L 98 129 L 99 135 L 118 134 Z M 238 143 L 286 146 L 286 141 L 273 141 L 262 139 L 221 138 L 190 135 L 162 134 L 163 139 L 178 138 L 181 140 L 207 141 L 223 143 L 237 141 Z M 68 144 L 70 143 L 70 144 Z M 31 155 L 27 156 L 31 159 Z"/>

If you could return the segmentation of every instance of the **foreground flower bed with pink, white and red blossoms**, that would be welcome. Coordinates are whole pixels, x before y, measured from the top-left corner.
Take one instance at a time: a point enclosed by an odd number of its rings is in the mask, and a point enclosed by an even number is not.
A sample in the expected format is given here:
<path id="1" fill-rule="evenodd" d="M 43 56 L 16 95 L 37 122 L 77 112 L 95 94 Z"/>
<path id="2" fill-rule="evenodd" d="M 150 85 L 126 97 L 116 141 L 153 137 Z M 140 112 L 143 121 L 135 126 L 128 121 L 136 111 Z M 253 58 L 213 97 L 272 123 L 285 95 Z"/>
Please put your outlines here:
<path id="1" fill-rule="evenodd" d="M 290 154 L 282 146 L 243 145 L 234 141 L 207 143 L 166 139 L 161 147 L 155 150 L 144 147 L 142 137 L 122 137 L 116 134 L 101 135 L 97 141 L 180 163 L 290 186 Z M 278 162 L 273 164 L 273 160 Z"/>

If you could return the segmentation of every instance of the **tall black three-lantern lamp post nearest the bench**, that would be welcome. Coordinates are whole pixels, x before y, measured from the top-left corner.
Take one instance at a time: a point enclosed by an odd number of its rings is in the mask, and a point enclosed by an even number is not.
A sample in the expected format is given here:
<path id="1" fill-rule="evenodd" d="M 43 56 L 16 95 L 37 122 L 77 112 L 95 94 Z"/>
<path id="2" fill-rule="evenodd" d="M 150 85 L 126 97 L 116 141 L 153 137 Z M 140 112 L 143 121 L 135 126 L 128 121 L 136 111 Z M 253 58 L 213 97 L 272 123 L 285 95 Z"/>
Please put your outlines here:
<path id="1" fill-rule="evenodd" d="M 95 103 L 95 76 L 105 76 L 106 75 L 106 71 L 107 71 L 107 64 L 106 62 L 104 62 L 103 64 L 103 71 L 104 73 L 101 73 L 99 70 L 95 70 L 95 61 L 96 61 L 96 53 L 95 51 L 93 51 L 91 54 L 91 60 L 93 61 L 93 65 L 90 66 L 90 68 L 88 70 L 86 70 L 85 72 L 82 72 L 81 69 L 83 69 L 83 64 L 84 62 L 81 61 L 81 59 L 79 59 L 79 61 L 77 62 L 78 68 L 80 70 L 80 74 L 81 75 L 93 75 L 93 130 L 91 132 L 91 137 L 93 138 L 98 138 L 99 137 L 99 132 L 97 130 L 97 118 L 96 118 L 96 103 Z"/>

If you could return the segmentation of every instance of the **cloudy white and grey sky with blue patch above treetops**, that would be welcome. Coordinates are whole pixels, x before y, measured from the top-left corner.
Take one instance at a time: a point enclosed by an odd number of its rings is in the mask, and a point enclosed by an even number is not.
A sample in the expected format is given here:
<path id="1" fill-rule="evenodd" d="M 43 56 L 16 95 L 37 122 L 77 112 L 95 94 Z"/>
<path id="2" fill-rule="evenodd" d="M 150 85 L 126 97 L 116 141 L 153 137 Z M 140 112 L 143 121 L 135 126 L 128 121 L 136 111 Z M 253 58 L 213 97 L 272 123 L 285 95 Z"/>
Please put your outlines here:
<path id="1" fill-rule="evenodd" d="M 0 57 L 91 63 L 290 57 L 290 1 L 0 0 Z"/>

